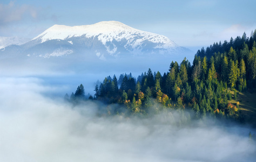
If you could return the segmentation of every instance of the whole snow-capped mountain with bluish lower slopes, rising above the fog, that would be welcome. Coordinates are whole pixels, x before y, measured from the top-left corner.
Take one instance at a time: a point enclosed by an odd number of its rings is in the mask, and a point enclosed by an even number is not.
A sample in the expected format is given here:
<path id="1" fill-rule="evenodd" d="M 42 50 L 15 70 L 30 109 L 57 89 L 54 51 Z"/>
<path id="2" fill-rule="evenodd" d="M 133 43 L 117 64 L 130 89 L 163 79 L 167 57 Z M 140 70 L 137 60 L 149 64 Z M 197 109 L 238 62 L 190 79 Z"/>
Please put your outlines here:
<path id="1" fill-rule="evenodd" d="M 123 55 L 173 55 L 187 51 L 165 36 L 116 21 L 82 26 L 53 25 L 29 42 L 9 48 L 10 51 L 14 49 L 26 56 L 49 58 L 84 53 L 99 59 Z"/>

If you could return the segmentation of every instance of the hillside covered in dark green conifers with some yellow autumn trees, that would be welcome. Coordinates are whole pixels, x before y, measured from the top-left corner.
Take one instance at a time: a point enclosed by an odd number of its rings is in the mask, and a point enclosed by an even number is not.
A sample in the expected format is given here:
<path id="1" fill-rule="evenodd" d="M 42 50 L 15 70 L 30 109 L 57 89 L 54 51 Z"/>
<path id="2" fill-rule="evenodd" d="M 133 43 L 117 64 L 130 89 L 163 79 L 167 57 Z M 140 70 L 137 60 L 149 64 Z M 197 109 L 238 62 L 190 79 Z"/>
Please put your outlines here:
<path id="1" fill-rule="evenodd" d="M 131 73 L 121 74 L 118 79 L 115 75 L 106 77 L 96 85 L 95 96 L 89 98 L 126 107 L 125 112 L 116 108 L 113 113 L 148 114 L 152 110 L 176 109 L 194 112 L 193 118 L 212 116 L 243 122 L 237 97 L 239 92 L 255 92 L 256 30 L 250 38 L 244 33 L 230 42 L 198 50 L 192 65 L 186 58 L 180 64 L 172 61 L 166 71 L 161 74 L 149 69 L 137 78 Z M 80 85 L 70 100 L 83 97 L 84 87 Z"/>

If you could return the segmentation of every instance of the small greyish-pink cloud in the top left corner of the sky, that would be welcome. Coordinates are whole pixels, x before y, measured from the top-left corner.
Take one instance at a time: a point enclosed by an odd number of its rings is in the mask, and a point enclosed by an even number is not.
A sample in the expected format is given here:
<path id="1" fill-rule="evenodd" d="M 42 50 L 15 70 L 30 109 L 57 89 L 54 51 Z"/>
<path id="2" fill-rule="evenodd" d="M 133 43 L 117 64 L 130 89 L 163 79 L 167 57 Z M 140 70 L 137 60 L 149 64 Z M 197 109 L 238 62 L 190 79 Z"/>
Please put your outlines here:
<path id="1" fill-rule="evenodd" d="M 5 25 L 22 21 L 25 17 L 37 18 L 37 9 L 30 5 L 16 5 L 11 1 L 9 4 L 0 4 L 0 24 Z"/>

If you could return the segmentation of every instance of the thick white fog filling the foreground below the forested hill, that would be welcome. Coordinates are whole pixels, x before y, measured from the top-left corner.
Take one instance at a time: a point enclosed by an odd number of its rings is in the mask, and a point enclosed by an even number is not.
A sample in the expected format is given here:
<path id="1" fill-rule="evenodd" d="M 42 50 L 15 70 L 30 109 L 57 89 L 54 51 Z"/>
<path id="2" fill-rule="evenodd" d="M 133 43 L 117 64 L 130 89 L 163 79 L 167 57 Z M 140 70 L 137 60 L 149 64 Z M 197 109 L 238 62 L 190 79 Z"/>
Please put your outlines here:
<path id="1" fill-rule="evenodd" d="M 72 107 L 49 97 L 67 86 L 36 77 L 0 78 L 0 161 L 255 161 L 255 130 L 176 112 L 149 118 L 97 116 L 100 105 Z M 64 94 L 63 94 L 64 95 Z"/>

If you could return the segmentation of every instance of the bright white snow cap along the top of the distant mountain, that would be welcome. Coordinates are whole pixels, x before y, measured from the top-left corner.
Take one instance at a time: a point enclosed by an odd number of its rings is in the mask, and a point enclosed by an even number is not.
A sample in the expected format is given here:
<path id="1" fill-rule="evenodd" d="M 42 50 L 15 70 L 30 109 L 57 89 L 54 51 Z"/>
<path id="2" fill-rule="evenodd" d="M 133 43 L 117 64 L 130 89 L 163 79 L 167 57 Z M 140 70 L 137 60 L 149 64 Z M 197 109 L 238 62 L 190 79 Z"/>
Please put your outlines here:
<path id="1" fill-rule="evenodd" d="M 106 42 L 111 42 L 113 39 L 120 41 L 125 38 L 127 40 L 134 39 L 136 36 L 142 36 L 142 39 L 139 39 L 134 46 L 141 43 L 143 40 L 147 39 L 153 43 L 164 43 L 167 47 L 177 46 L 174 42 L 172 42 L 169 38 L 161 35 L 157 35 L 151 32 L 145 32 L 141 30 L 137 30 L 127 26 L 123 23 L 116 21 L 108 21 L 108 22 L 99 22 L 93 25 L 82 25 L 82 26 L 65 26 L 65 25 L 53 25 L 51 28 L 45 30 L 43 33 L 38 35 L 33 39 L 41 39 L 42 42 L 52 39 L 68 39 L 70 37 L 95 37 L 99 36 L 98 39 L 102 41 L 103 44 Z M 32 39 L 32 40 L 33 40 Z M 129 43 L 130 43 L 129 42 Z"/>

